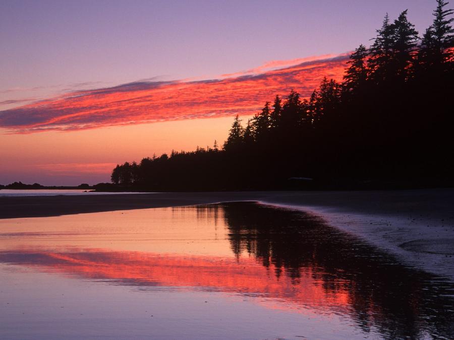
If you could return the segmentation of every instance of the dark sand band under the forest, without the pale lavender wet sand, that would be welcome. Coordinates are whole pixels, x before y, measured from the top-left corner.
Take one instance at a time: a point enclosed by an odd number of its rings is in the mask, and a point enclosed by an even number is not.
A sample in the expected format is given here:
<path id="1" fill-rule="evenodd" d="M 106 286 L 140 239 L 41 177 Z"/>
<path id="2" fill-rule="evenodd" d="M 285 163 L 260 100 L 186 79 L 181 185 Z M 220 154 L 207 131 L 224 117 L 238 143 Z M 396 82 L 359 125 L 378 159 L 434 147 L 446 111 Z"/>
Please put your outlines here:
<path id="1" fill-rule="evenodd" d="M 113 210 L 176 207 L 235 200 L 324 207 L 362 214 L 454 219 L 454 189 L 389 191 L 169 192 L 0 197 L 0 218 L 45 217 Z"/>

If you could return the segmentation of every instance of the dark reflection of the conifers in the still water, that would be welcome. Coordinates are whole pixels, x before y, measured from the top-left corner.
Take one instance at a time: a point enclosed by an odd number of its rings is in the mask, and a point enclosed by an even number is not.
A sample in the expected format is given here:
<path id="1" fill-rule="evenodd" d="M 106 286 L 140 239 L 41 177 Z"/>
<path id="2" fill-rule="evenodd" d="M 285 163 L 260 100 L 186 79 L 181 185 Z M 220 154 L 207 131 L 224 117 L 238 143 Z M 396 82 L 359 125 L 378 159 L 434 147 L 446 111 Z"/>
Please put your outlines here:
<path id="1" fill-rule="evenodd" d="M 347 290 L 363 330 L 375 327 L 389 338 L 454 336 L 451 283 L 411 269 L 309 214 L 252 202 L 220 207 L 237 256 L 247 253 L 272 265 L 276 277 L 285 273 L 294 285 L 311 273 L 327 294 Z"/>

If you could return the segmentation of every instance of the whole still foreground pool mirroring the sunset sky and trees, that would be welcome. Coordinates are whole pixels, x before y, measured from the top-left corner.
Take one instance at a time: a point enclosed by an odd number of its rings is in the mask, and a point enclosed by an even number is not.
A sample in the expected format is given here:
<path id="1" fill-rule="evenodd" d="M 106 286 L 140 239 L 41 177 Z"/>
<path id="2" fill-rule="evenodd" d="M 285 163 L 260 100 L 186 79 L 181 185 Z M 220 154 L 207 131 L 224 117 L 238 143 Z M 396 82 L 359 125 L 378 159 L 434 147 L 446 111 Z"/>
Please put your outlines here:
<path id="1" fill-rule="evenodd" d="M 454 338 L 453 284 L 253 202 L 0 220 L 1 338 Z"/>

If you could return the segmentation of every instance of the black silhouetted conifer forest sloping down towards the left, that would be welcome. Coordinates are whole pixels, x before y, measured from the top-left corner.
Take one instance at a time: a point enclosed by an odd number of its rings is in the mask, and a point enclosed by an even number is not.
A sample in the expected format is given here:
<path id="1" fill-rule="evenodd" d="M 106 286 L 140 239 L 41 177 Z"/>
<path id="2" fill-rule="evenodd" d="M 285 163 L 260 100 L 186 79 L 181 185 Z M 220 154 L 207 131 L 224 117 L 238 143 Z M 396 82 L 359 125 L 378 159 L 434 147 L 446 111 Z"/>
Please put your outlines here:
<path id="1" fill-rule="evenodd" d="M 452 185 L 453 10 L 436 1 L 422 37 L 407 10 L 386 15 L 343 82 L 310 98 L 276 95 L 222 147 L 117 165 L 104 189 L 238 190 Z M 377 184 L 378 183 L 378 184 Z"/>

